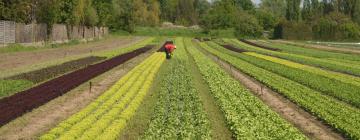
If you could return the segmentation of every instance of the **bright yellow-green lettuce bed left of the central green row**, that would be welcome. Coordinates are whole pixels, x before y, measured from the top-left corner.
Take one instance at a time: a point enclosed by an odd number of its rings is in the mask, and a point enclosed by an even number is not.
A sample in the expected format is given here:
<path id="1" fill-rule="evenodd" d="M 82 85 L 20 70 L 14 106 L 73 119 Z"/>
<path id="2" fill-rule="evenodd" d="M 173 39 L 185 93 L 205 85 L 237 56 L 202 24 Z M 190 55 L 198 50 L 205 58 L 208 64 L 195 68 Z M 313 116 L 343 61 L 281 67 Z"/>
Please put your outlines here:
<path id="1" fill-rule="evenodd" d="M 152 55 L 40 139 L 116 139 L 141 104 L 163 61 L 161 53 Z"/>

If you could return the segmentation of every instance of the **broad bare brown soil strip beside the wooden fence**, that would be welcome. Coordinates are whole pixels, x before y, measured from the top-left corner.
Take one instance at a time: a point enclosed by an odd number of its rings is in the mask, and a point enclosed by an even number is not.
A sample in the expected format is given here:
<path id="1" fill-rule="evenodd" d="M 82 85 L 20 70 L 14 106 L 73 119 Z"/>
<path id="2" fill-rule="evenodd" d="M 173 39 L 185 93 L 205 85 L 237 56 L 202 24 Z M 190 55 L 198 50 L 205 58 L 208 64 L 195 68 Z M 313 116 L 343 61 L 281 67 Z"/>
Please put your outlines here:
<path id="1" fill-rule="evenodd" d="M 127 46 L 142 40 L 142 37 L 119 38 L 109 37 L 105 40 L 91 44 L 79 44 L 72 47 L 45 49 L 32 52 L 18 52 L 0 54 L 0 71 L 25 67 L 27 65 L 45 61 L 65 58 L 69 56 L 84 55 L 97 51 L 111 50 Z"/>

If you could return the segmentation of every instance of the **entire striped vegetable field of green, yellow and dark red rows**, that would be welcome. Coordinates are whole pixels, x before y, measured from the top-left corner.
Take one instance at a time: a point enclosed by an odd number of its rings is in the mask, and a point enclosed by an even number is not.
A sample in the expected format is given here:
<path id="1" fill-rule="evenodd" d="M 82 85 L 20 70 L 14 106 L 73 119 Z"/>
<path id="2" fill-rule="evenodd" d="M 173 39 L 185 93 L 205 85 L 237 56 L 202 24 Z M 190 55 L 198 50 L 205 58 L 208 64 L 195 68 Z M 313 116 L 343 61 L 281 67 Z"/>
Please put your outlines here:
<path id="1" fill-rule="evenodd" d="M 176 45 L 171 59 L 156 52 L 168 40 Z M 95 54 L 0 79 L 0 139 L 15 131 L 12 123 L 36 115 L 32 110 L 53 109 L 53 100 L 104 73 L 124 74 L 109 85 L 91 83 L 87 94 L 99 94 L 78 111 L 64 111 L 46 126 L 25 122 L 24 129 L 39 129 L 25 138 L 360 139 L 359 55 L 281 41 L 190 37 L 149 37 Z"/>

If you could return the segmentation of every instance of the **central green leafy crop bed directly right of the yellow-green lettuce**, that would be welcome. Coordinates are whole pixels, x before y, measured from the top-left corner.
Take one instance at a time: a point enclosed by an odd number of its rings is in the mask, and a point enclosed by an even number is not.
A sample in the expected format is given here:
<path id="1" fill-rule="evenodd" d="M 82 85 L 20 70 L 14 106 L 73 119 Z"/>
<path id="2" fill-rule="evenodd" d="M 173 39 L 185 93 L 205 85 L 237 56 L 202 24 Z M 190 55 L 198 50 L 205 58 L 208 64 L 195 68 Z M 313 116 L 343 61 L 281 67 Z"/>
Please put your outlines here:
<path id="1" fill-rule="evenodd" d="M 182 38 L 167 64 L 156 109 L 142 139 L 210 139 L 210 124 L 193 86 Z"/>

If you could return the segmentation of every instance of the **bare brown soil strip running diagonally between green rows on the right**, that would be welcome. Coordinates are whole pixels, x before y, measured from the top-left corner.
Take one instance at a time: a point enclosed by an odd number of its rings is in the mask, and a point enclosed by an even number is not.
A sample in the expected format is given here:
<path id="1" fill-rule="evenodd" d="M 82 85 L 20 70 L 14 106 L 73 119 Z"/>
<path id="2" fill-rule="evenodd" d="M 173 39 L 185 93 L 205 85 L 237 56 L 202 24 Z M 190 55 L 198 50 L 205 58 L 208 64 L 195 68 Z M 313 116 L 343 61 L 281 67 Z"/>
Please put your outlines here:
<path id="1" fill-rule="evenodd" d="M 314 116 L 301 109 L 296 104 L 287 100 L 279 93 L 272 91 L 255 79 L 238 71 L 236 68 L 218 59 L 216 56 L 208 54 L 214 61 L 227 70 L 234 78 L 239 80 L 244 86 L 257 95 L 272 110 L 280 114 L 295 127 L 299 128 L 305 135 L 311 139 L 319 140 L 341 140 L 344 139 L 340 134 L 334 132 L 331 128 L 321 123 Z"/>

